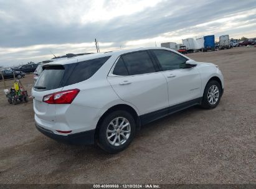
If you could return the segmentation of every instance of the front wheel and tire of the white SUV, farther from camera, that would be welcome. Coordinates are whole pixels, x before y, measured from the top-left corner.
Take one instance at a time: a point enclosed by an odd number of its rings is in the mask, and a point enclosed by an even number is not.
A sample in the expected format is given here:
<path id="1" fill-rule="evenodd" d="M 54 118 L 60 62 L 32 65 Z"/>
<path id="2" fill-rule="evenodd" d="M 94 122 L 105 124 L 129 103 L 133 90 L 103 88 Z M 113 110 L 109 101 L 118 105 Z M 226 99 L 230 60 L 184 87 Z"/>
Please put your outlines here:
<path id="1" fill-rule="evenodd" d="M 222 94 L 222 88 L 218 81 L 209 81 L 204 89 L 204 96 L 202 97 L 202 108 L 213 109 L 219 104 Z"/>

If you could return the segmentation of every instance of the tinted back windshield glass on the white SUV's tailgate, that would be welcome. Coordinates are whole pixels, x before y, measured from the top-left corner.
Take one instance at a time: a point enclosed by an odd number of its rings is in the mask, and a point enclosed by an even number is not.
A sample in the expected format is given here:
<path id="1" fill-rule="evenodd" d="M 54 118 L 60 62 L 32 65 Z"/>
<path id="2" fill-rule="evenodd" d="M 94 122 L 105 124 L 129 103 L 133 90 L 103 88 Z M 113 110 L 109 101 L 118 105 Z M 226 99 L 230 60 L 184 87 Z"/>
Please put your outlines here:
<path id="1" fill-rule="evenodd" d="M 62 65 L 45 67 L 34 86 L 35 89 L 46 91 L 60 88 L 60 82 L 64 76 L 64 72 L 65 68 Z"/>

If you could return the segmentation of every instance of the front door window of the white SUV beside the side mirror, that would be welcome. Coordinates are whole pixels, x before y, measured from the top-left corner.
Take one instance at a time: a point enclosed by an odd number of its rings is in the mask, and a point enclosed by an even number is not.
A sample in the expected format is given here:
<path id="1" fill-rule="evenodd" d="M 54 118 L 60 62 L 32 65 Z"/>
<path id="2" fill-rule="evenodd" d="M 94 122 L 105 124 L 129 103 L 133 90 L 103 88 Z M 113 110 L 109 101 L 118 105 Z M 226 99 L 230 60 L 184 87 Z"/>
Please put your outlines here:
<path id="1" fill-rule="evenodd" d="M 185 68 L 187 58 L 167 50 L 153 50 L 164 71 Z"/>

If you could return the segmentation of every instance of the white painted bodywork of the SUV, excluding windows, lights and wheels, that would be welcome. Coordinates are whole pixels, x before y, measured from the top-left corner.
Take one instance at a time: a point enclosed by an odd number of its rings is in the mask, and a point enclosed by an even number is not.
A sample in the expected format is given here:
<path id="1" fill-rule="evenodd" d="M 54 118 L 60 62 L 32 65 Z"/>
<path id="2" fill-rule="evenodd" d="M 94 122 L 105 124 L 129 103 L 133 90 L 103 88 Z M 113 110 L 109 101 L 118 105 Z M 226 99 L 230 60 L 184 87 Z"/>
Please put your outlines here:
<path id="1" fill-rule="evenodd" d="M 194 68 L 159 71 L 158 73 L 136 76 L 109 75 L 116 60 L 123 53 L 149 49 L 164 49 L 176 52 L 169 48 L 136 48 L 85 55 L 72 58 L 71 60 L 57 60 L 47 63 L 48 65 L 64 65 L 111 56 L 88 80 L 49 91 L 35 91 L 32 89 L 35 121 L 39 126 L 49 129 L 56 134 L 59 134 L 56 130 L 72 131 L 70 134 L 73 134 L 95 129 L 101 116 L 109 108 L 117 104 L 131 106 L 138 116 L 141 116 L 174 104 L 189 101 L 190 99 L 202 97 L 206 83 L 212 76 L 219 77 L 222 81 L 222 87 L 224 86 L 222 73 L 212 63 L 195 62 L 197 66 Z M 186 57 L 180 53 L 178 54 Z M 186 58 L 191 60 L 188 57 Z M 167 76 L 170 73 L 174 73 L 176 76 L 168 78 Z M 119 85 L 120 82 L 125 80 L 130 81 L 131 84 Z M 47 104 L 42 102 L 44 95 L 74 88 L 78 88 L 80 92 L 72 104 Z M 190 91 L 195 88 L 199 89 Z"/>

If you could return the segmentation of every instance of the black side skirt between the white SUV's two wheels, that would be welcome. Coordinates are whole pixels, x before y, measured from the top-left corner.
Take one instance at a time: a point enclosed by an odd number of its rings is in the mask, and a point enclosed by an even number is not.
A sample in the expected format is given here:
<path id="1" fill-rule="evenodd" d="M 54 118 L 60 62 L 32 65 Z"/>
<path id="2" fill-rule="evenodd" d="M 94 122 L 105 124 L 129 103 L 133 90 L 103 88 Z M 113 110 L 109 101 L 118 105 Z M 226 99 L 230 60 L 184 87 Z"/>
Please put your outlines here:
<path id="1" fill-rule="evenodd" d="M 191 106 L 201 104 L 201 101 L 202 98 L 196 98 L 190 101 L 186 101 L 184 103 L 170 106 L 169 108 L 159 109 L 157 111 L 153 111 L 152 113 L 143 114 L 140 116 L 141 125 L 148 124 L 149 122 L 155 121 L 156 119 L 163 118 L 165 116 L 176 113 Z"/>

